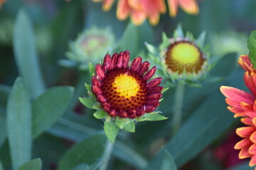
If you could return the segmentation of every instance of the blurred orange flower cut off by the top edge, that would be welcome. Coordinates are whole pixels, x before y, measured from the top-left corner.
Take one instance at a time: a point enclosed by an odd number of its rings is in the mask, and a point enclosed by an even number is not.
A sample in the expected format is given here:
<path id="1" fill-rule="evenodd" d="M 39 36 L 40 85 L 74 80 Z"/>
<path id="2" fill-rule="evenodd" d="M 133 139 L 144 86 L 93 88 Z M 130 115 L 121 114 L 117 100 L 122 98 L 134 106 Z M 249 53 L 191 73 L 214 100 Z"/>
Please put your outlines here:
<path id="1" fill-rule="evenodd" d="M 103 1 L 102 9 L 110 10 L 114 0 L 92 0 Z M 186 13 L 197 14 L 199 12 L 196 0 L 169 0 L 170 16 L 176 16 L 178 6 L 181 6 Z M 135 25 L 141 25 L 146 18 L 151 25 L 159 23 L 161 13 L 166 13 L 164 0 L 119 0 L 117 4 L 117 18 L 125 20 L 129 16 Z"/>

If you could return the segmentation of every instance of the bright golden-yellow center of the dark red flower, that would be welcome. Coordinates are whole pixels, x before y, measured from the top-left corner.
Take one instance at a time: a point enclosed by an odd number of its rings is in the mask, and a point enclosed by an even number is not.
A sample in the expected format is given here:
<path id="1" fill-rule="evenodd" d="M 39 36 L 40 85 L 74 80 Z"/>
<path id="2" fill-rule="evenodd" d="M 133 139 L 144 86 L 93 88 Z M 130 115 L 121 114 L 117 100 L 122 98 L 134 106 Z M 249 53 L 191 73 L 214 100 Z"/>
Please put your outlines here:
<path id="1" fill-rule="evenodd" d="M 114 91 L 124 98 L 136 96 L 139 91 L 139 84 L 137 83 L 137 80 L 127 74 L 117 76 L 114 79 L 112 86 L 115 89 Z"/>

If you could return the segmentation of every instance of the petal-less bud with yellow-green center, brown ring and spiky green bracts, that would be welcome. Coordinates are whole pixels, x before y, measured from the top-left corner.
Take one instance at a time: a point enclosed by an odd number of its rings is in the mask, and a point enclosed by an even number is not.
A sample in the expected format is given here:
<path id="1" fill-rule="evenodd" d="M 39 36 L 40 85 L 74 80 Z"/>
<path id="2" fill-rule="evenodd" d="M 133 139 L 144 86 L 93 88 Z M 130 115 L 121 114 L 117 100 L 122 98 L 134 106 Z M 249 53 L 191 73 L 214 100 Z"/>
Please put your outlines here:
<path id="1" fill-rule="evenodd" d="M 202 33 L 196 40 L 191 33 L 187 33 L 185 37 L 181 27 L 178 27 L 173 38 L 163 34 L 163 42 L 158 50 L 149 44 L 146 47 L 151 60 L 161 66 L 164 76 L 171 78 L 172 82 L 196 82 L 203 79 L 210 69 L 208 52 L 203 49 L 204 36 Z"/>

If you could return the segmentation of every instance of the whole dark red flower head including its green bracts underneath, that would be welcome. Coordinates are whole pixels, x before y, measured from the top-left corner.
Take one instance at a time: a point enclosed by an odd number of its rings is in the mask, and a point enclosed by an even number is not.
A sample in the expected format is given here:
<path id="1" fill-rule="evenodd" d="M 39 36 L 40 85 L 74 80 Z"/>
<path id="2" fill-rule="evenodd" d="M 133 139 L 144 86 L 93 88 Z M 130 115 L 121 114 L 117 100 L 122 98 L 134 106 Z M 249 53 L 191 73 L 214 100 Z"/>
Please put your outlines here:
<path id="1" fill-rule="evenodd" d="M 134 132 L 134 120 L 164 120 L 156 108 L 166 90 L 161 77 L 154 77 L 156 67 L 136 57 L 129 62 L 129 52 L 105 55 L 95 69 L 90 64 L 92 86 L 85 84 L 89 98 L 80 98 L 88 108 L 97 109 L 95 118 L 105 120 L 105 133 L 114 142 L 118 129 Z M 95 70 L 95 71 L 94 71 Z M 111 127 L 111 128 L 110 128 Z"/>

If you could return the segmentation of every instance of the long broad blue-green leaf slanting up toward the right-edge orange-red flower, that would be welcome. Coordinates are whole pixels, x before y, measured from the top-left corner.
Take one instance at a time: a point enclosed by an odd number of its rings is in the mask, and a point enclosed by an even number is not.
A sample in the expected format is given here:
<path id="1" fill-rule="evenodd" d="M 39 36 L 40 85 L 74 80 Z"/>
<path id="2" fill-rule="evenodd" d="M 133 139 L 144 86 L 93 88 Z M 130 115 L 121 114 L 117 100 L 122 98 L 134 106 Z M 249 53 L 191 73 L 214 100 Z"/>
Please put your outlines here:
<path id="1" fill-rule="evenodd" d="M 243 86 L 242 71 L 233 72 L 228 81 L 235 86 Z M 232 85 L 231 84 L 231 85 Z M 213 89 L 210 98 L 201 104 L 191 118 L 181 127 L 181 130 L 164 147 L 174 157 L 178 167 L 196 156 L 203 148 L 213 142 L 234 121 L 233 113 L 227 109 L 225 98 L 220 90 Z M 213 112 L 214 111 L 214 112 Z M 163 150 L 152 160 L 147 169 L 158 169 Z"/>

